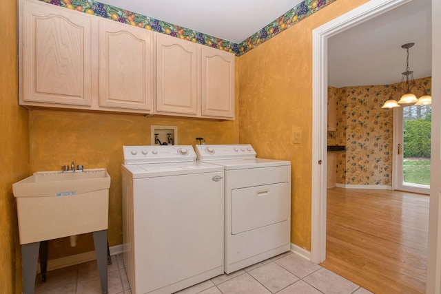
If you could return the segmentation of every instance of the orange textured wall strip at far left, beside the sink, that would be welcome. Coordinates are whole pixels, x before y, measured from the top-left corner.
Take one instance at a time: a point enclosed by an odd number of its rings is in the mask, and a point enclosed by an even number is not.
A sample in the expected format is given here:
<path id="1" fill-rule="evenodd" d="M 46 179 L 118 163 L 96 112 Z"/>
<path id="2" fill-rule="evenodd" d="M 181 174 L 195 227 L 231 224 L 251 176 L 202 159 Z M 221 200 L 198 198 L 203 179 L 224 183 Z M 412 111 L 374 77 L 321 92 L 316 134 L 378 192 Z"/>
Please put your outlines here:
<path id="1" fill-rule="evenodd" d="M 18 103 L 17 1 L 0 1 L 0 293 L 21 293 L 12 184 L 29 176 L 28 111 Z"/>

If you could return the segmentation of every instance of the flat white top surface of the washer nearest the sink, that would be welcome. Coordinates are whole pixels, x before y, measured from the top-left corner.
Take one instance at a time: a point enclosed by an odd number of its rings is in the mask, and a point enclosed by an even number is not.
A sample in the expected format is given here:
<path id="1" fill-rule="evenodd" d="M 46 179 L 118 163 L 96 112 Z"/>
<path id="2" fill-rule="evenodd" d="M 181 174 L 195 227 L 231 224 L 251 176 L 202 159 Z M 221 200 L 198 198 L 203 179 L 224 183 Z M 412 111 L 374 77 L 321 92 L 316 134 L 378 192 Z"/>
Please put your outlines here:
<path id="1" fill-rule="evenodd" d="M 223 177 L 224 168 L 219 165 L 209 163 L 192 162 L 160 162 L 141 165 L 123 165 L 132 178 L 154 178 L 159 176 L 181 176 L 189 174 L 203 174 L 218 172 Z"/>

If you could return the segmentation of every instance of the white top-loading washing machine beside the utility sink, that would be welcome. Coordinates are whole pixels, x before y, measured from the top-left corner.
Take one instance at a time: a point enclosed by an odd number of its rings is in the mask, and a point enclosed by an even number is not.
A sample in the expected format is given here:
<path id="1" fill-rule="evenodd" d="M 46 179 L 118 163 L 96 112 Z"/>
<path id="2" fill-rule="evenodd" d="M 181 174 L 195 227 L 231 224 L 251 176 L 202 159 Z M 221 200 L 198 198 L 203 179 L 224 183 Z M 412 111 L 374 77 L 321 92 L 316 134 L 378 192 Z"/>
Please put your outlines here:
<path id="1" fill-rule="evenodd" d="M 224 272 L 223 167 L 192 146 L 124 146 L 123 261 L 132 293 L 173 293 Z"/>

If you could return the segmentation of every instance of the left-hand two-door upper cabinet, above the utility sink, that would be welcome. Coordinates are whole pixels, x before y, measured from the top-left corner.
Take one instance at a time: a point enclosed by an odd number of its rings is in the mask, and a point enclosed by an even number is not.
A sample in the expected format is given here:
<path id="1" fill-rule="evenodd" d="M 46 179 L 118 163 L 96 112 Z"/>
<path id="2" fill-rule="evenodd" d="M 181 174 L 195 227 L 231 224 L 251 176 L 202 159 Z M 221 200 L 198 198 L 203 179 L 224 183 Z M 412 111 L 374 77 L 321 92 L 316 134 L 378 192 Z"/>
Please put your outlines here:
<path id="1" fill-rule="evenodd" d="M 34 0 L 20 25 L 21 105 L 152 112 L 152 32 Z"/>

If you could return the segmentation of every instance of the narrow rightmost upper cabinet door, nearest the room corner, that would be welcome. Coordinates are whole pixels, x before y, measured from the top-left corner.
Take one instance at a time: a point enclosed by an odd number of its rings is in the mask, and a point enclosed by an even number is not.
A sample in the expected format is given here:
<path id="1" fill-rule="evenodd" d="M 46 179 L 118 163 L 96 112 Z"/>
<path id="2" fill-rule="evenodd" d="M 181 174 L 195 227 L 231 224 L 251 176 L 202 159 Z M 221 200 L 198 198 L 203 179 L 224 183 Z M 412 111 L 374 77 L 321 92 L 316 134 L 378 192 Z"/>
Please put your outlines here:
<path id="1" fill-rule="evenodd" d="M 234 54 L 202 48 L 202 116 L 234 118 Z"/>

